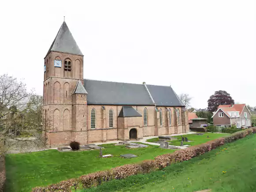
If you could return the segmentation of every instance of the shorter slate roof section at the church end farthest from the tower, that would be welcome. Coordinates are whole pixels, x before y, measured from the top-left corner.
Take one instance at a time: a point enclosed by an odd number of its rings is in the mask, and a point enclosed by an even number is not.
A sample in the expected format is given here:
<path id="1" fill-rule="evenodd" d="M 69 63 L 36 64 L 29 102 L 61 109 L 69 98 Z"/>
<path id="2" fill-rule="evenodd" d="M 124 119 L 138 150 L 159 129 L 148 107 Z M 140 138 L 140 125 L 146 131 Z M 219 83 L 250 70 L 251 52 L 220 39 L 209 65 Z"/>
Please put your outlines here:
<path id="1" fill-rule="evenodd" d="M 147 89 L 157 106 L 184 106 L 172 87 L 147 85 Z"/>

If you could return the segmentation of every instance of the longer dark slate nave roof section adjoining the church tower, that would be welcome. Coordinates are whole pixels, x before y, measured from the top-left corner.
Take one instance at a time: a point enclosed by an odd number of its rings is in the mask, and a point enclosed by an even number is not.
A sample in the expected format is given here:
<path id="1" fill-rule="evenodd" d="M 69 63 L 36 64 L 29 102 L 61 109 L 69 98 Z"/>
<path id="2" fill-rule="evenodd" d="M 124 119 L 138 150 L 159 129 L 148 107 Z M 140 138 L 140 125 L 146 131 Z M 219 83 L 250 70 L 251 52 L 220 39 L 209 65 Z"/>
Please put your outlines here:
<path id="1" fill-rule="evenodd" d="M 143 84 L 117 83 L 84 79 L 87 104 L 154 105 Z"/>

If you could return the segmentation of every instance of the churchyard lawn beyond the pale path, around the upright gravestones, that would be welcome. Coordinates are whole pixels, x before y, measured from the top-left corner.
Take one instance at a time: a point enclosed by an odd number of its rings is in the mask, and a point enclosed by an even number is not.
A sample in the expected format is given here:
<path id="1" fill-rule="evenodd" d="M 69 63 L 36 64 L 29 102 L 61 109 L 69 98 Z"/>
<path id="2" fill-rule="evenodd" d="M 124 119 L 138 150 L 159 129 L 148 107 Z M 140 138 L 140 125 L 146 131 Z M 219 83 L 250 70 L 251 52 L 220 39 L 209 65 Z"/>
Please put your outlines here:
<path id="1" fill-rule="evenodd" d="M 187 137 L 188 140 L 191 142 L 183 142 L 184 145 L 199 145 L 201 143 L 206 143 L 207 141 L 213 140 L 213 139 L 218 139 L 220 137 L 224 136 L 229 136 L 230 134 L 227 133 L 204 133 L 202 136 L 196 135 L 196 134 L 188 134 L 188 135 L 183 135 L 184 137 Z M 209 136 L 209 138 L 207 138 Z M 178 138 L 177 140 L 170 141 L 170 145 L 176 145 L 180 146 L 181 145 L 181 136 L 173 136 Z M 147 142 L 156 142 L 159 141 L 158 137 L 152 138 L 152 139 L 147 139 Z"/>

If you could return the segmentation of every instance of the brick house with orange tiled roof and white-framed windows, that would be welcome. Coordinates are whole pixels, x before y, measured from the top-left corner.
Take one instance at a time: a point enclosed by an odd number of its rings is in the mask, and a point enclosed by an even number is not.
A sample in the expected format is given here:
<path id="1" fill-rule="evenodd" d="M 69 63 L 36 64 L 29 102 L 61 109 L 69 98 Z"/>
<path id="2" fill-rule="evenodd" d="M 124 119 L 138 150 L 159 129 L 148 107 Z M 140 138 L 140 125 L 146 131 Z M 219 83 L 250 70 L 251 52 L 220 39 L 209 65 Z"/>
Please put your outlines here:
<path id="1" fill-rule="evenodd" d="M 251 127 L 251 112 L 245 104 L 219 105 L 212 117 L 217 126 Z"/>

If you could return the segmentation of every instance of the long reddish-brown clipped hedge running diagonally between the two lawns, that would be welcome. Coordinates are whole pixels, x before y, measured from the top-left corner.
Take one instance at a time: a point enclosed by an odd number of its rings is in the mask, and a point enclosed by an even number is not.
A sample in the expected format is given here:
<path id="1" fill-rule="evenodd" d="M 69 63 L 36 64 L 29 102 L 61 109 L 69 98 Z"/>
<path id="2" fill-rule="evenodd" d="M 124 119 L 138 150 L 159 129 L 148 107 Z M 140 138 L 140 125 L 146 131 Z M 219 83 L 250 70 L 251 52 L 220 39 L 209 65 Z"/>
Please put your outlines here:
<path id="1" fill-rule="evenodd" d="M 163 154 L 157 156 L 154 158 L 154 160 L 146 160 L 139 164 L 128 164 L 106 171 L 90 173 L 79 177 L 79 179 L 61 181 L 58 184 L 51 184 L 48 187 L 36 187 L 32 191 L 46 192 L 61 190 L 62 192 L 68 192 L 71 190 L 71 188 L 77 188 L 79 184 L 82 184 L 83 188 L 90 188 L 112 179 L 124 179 L 138 173 L 149 173 L 156 169 L 163 169 L 166 166 L 176 162 L 188 161 L 193 157 L 199 156 L 215 149 L 216 147 L 222 146 L 224 143 L 233 142 L 255 132 L 256 128 L 248 128 L 244 131 L 236 132 L 231 136 L 222 137 L 197 146 L 188 147 L 184 150 L 175 151 L 172 154 Z"/>

